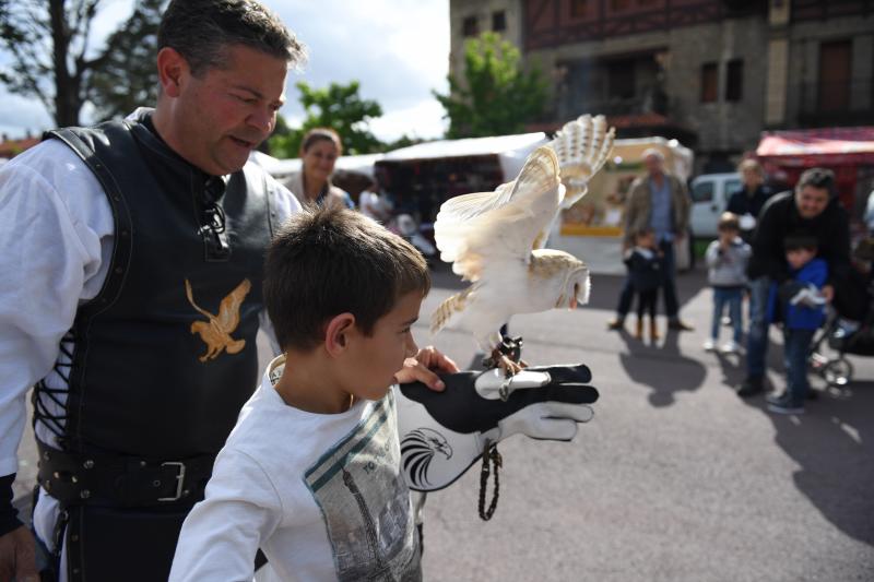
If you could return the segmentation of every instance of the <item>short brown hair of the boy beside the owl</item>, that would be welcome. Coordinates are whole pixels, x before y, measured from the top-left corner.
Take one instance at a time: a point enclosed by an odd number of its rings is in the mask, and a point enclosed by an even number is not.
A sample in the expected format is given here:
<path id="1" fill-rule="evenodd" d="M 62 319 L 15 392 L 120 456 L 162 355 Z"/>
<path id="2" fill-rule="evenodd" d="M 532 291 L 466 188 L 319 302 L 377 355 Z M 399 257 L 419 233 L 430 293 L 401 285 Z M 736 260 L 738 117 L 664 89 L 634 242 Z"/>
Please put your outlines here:
<path id="1" fill-rule="evenodd" d="M 343 312 L 370 335 L 400 297 L 429 289 L 422 253 L 347 209 L 296 214 L 267 251 L 264 304 L 283 351 L 311 351 L 324 341 L 324 324 Z"/>

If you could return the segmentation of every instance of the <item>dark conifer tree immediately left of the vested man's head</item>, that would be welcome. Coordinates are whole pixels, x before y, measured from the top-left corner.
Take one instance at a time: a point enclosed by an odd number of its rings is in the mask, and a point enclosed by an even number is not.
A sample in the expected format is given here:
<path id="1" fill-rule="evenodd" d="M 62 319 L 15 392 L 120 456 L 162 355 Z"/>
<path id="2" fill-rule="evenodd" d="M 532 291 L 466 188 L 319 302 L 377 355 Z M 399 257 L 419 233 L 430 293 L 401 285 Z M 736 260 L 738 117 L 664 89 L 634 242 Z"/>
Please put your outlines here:
<path id="1" fill-rule="evenodd" d="M 111 51 L 95 70 L 88 99 L 97 119 L 125 117 L 157 100 L 157 27 L 167 0 L 140 0 L 128 22 L 107 39 Z"/>

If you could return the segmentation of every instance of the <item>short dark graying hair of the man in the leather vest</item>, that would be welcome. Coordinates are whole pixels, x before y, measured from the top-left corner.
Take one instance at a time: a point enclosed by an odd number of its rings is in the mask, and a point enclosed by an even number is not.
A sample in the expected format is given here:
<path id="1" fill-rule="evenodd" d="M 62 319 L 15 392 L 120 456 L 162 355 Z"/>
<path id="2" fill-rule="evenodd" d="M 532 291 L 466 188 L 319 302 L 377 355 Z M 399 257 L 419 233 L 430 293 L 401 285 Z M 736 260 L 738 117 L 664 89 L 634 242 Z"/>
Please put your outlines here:
<path id="1" fill-rule="evenodd" d="M 172 0 L 161 19 L 157 48 L 176 49 L 199 76 L 225 64 L 225 50 L 244 45 L 298 64 L 306 49 L 256 0 Z"/>

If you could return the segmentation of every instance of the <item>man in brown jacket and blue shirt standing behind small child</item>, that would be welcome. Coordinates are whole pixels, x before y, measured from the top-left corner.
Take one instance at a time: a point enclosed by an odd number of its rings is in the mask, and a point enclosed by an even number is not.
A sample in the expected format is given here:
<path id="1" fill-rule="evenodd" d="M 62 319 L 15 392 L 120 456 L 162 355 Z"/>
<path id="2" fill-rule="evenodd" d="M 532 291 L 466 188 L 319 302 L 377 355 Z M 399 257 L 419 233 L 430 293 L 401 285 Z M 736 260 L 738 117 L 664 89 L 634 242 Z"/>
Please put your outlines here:
<path id="1" fill-rule="evenodd" d="M 683 322 L 678 314 L 674 258 L 674 245 L 681 244 L 688 231 L 690 207 L 688 191 L 682 180 L 664 169 L 664 155 L 660 151 L 648 149 L 643 152 L 642 159 L 647 175 L 637 178 L 628 191 L 624 246 L 626 248 L 631 246 L 635 233 L 647 227 L 652 228 L 663 261 L 662 287 L 668 329 L 690 331 L 692 325 Z M 616 318 L 607 324 L 609 329 L 619 330 L 624 326 L 633 296 L 631 281 L 626 278 L 619 294 Z"/>

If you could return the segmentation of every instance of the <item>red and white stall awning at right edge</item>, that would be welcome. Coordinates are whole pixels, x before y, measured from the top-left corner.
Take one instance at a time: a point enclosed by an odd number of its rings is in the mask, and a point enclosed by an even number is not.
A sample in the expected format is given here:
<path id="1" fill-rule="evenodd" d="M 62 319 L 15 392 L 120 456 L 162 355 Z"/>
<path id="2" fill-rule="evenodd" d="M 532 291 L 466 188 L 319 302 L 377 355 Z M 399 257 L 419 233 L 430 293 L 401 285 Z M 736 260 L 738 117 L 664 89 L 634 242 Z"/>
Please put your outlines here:
<path id="1" fill-rule="evenodd" d="M 765 132 L 756 155 L 781 166 L 874 164 L 874 127 Z"/>

